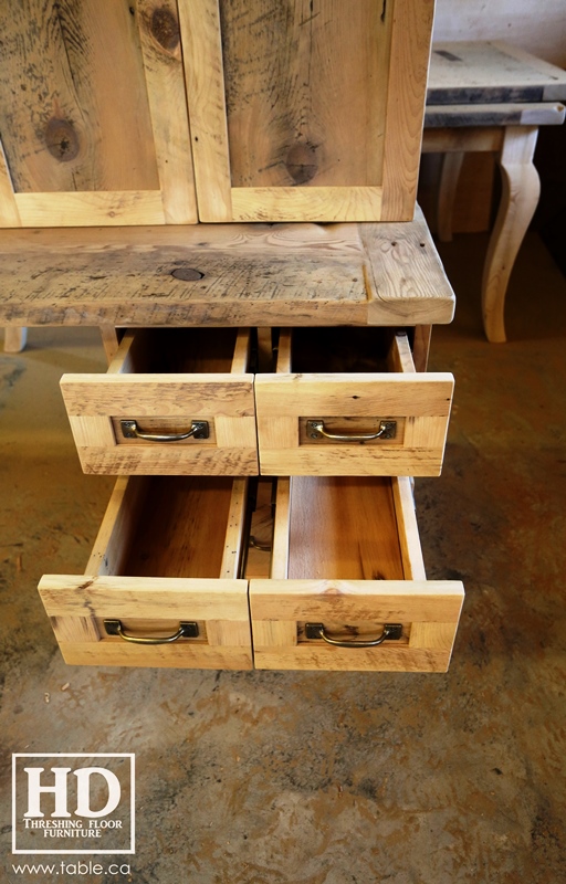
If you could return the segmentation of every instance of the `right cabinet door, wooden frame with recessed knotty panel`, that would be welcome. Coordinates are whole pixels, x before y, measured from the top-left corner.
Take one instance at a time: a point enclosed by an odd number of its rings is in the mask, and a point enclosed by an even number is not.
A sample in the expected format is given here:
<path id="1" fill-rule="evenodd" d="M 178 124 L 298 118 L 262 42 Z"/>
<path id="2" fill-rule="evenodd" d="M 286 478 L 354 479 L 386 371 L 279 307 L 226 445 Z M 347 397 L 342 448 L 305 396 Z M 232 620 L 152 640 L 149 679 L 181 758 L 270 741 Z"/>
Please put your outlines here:
<path id="1" fill-rule="evenodd" d="M 180 0 L 200 220 L 410 220 L 432 10 Z"/>

